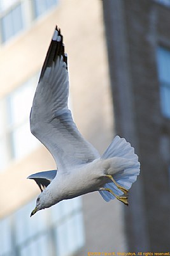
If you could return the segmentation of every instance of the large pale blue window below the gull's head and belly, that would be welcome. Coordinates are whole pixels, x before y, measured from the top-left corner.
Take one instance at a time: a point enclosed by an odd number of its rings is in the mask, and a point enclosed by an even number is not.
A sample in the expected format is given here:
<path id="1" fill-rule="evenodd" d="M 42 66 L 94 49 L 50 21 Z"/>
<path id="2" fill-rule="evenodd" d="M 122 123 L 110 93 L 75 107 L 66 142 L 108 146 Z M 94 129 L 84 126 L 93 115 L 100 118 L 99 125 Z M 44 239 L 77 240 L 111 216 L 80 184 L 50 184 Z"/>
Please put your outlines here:
<path id="1" fill-rule="evenodd" d="M 0 256 L 65 256 L 84 244 L 81 197 L 29 217 L 35 200 L 0 220 Z"/>

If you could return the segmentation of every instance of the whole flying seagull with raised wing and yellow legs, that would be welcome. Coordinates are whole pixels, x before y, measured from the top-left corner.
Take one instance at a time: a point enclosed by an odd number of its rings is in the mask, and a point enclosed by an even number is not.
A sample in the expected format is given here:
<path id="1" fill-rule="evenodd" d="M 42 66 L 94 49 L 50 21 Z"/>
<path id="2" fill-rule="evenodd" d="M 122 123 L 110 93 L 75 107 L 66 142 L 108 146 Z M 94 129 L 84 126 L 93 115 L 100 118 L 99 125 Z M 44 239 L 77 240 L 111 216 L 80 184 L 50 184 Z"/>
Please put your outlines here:
<path id="1" fill-rule="evenodd" d="M 31 216 L 62 200 L 99 191 L 106 202 L 128 205 L 128 192 L 140 171 L 138 156 L 115 136 L 102 156 L 81 136 L 68 108 L 69 76 L 63 36 L 55 28 L 32 102 L 30 127 L 52 154 L 57 169 L 34 173 L 41 189 Z"/>

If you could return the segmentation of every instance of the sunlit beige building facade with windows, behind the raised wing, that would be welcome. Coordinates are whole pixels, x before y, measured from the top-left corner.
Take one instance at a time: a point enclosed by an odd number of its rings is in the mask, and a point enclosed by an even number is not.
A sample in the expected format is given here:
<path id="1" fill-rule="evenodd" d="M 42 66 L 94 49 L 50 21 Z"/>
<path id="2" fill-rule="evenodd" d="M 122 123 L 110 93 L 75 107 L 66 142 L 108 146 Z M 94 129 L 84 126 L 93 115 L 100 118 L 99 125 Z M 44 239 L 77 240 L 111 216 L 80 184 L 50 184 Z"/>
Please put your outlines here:
<path id="1" fill-rule="evenodd" d="M 101 154 L 115 135 L 102 2 L 0 4 L 0 255 L 125 252 L 124 206 L 104 202 L 97 192 L 29 218 L 40 191 L 27 176 L 55 168 L 29 131 L 29 113 L 56 24 L 68 53 L 70 106 L 78 128 Z"/>

